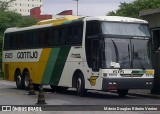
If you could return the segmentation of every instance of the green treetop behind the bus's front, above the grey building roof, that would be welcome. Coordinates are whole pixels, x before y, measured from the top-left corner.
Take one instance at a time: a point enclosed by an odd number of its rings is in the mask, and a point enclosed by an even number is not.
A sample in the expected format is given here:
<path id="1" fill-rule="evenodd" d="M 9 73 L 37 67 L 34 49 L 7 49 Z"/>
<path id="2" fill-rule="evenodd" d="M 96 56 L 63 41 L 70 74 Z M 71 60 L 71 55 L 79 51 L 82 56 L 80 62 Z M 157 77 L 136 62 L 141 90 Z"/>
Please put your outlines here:
<path id="1" fill-rule="evenodd" d="M 135 0 L 132 3 L 121 3 L 118 10 L 110 11 L 107 15 L 140 18 L 140 11 L 155 8 L 160 8 L 160 0 Z"/>

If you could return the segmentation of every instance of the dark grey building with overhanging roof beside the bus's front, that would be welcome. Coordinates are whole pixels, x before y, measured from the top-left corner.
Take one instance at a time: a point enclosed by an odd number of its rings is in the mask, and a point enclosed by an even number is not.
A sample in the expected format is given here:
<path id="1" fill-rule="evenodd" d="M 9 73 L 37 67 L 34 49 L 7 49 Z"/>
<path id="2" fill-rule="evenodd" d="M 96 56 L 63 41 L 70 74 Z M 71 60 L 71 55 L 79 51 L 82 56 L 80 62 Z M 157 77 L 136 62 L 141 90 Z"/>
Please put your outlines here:
<path id="1" fill-rule="evenodd" d="M 160 8 L 141 11 L 140 16 L 148 21 L 152 35 L 152 64 L 155 69 L 152 93 L 160 94 Z"/>

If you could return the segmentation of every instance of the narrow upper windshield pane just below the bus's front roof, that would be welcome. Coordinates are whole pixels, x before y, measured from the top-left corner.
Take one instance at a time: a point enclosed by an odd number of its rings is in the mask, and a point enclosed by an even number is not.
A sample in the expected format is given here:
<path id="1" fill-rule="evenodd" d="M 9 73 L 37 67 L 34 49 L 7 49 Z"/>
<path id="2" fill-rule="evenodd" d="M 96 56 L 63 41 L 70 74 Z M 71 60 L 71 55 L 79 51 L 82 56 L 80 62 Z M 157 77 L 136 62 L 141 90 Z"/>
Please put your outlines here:
<path id="1" fill-rule="evenodd" d="M 150 37 L 147 24 L 102 22 L 102 34 Z"/>

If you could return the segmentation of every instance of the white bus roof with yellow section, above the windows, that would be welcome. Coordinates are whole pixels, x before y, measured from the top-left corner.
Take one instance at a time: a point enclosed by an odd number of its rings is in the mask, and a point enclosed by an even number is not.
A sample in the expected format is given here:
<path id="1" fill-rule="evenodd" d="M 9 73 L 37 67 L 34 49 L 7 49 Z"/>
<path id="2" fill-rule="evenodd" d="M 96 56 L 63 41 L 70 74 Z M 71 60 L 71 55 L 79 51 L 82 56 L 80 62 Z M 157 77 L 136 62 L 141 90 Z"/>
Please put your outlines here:
<path id="1" fill-rule="evenodd" d="M 57 26 L 57 25 L 64 24 L 66 22 L 72 22 L 72 21 L 76 21 L 76 20 L 77 21 L 78 20 L 83 20 L 83 21 L 100 20 L 100 21 L 113 21 L 113 22 L 148 23 L 145 20 L 130 18 L 130 17 L 121 17 L 121 16 L 95 16 L 95 17 L 63 16 L 63 17 L 57 17 L 57 18 L 53 18 L 53 19 L 43 20 L 43 21 L 38 22 L 37 25 L 33 25 L 33 26 L 29 26 L 29 27 L 8 28 L 8 29 L 6 29 L 5 33 Z"/>

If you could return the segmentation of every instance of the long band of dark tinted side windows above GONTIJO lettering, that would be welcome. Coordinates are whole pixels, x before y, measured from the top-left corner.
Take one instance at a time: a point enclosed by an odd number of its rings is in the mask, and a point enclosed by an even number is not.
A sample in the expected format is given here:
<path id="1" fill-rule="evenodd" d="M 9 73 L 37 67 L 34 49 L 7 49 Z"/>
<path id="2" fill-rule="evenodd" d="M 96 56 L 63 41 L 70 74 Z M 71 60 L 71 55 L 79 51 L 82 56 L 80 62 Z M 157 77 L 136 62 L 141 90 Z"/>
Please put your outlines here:
<path id="1" fill-rule="evenodd" d="M 41 48 L 48 46 L 82 45 L 83 23 L 74 22 L 5 35 L 4 49 Z"/>

